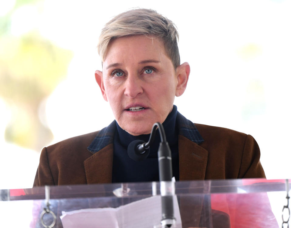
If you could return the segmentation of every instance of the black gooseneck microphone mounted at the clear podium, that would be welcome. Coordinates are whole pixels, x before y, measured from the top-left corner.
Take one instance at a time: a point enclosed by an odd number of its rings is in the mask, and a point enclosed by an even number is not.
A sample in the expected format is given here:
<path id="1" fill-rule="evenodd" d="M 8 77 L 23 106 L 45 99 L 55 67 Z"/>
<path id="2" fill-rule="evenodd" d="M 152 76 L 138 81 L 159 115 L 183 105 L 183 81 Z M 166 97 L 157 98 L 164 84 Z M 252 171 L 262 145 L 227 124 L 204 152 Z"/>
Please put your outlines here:
<path id="1" fill-rule="evenodd" d="M 174 205 L 172 192 L 167 192 L 167 183 L 172 181 L 172 156 L 171 149 L 167 143 L 164 127 L 161 123 L 154 123 L 149 141 L 146 143 L 142 140 L 134 140 L 127 147 L 127 153 L 130 158 L 136 161 L 144 160 L 150 153 L 150 145 L 154 142 L 157 127 L 160 132 L 160 146 L 158 149 L 159 177 L 161 182 L 161 203 L 162 203 L 162 219 L 163 227 L 171 227 L 175 223 Z M 172 189 L 174 191 L 174 189 Z"/>

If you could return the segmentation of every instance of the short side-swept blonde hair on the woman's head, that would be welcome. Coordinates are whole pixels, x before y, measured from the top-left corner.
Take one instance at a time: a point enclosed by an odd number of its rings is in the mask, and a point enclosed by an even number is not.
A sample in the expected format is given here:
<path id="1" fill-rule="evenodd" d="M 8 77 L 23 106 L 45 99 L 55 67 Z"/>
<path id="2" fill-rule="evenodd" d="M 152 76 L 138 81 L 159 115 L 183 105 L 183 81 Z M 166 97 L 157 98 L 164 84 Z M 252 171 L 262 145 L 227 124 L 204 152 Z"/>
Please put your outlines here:
<path id="1" fill-rule="evenodd" d="M 174 68 L 180 65 L 179 34 L 176 25 L 155 10 L 143 8 L 123 12 L 106 23 L 101 30 L 97 45 L 102 62 L 111 40 L 131 35 L 149 35 L 160 38 Z"/>

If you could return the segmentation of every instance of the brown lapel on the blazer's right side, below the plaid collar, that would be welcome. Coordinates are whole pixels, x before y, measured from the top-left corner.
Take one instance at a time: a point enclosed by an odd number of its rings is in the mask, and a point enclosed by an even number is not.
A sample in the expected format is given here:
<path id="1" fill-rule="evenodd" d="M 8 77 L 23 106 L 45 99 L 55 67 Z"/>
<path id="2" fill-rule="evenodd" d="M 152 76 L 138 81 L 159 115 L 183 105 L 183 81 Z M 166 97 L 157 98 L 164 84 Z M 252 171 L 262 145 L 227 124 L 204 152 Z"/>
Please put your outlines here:
<path id="1" fill-rule="evenodd" d="M 179 135 L 179 180 L 204 180 L 208 151 Z"/>

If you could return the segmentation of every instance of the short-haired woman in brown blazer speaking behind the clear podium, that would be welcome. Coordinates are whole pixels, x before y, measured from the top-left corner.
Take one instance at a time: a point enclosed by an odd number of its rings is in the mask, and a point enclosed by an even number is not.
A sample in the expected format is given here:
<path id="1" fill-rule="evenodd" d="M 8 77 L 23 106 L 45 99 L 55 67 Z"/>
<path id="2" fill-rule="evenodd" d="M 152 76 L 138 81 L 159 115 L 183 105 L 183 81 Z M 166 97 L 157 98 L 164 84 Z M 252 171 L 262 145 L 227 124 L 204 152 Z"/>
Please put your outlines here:
<path id="1" fill-rule="evenodd" d="M 252 136 L 193 124 L 173 105 L 190 74 L 189 64 L 180 64 L 177 41 L 173 22 L 149 9 L 121 13 L 105 25 L 95 78 L 115 120 L 43 148 L 34 186 L 158 181 L 158 135 L 147 159 L 127 155 L 128 144 L 147 141 L 155 122 L 166 131 L 176 180 L 265 177 Z"/>

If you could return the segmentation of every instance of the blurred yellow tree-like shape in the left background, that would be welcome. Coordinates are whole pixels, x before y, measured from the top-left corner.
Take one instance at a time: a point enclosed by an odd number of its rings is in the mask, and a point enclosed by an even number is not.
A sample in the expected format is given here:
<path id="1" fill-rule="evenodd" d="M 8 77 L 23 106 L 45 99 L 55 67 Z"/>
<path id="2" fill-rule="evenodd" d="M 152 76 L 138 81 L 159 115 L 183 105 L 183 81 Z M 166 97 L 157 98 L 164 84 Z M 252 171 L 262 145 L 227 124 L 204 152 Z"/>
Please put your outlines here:
<path id="1" fill-rule="evenodd" d="M 41 101 L 66 78 L 73 52 L 59 48 L 36 31 L 0 37 L 0 96 L 12 108 L 5 140 L 40 150 L 52 133 L 38 118 Z"/>

